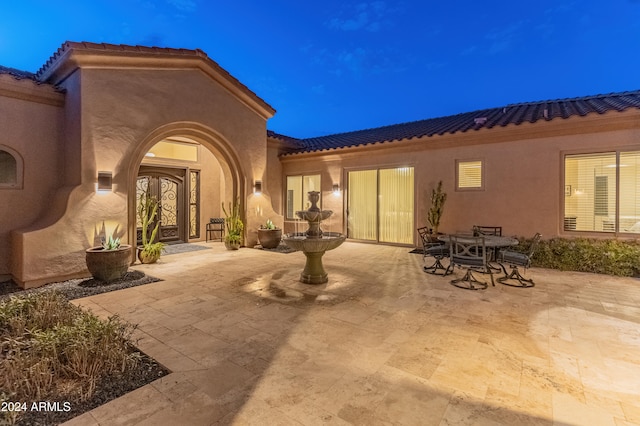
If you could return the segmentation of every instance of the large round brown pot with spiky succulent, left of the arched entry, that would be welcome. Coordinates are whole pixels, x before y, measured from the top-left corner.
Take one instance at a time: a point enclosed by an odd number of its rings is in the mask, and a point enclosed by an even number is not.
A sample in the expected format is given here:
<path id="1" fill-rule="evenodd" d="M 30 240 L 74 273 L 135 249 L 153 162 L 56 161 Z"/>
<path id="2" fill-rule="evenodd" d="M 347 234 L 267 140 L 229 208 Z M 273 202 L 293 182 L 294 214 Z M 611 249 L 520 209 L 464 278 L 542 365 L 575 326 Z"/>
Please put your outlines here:
<path id="1" fill-rule="evenodd" d="M 101 246 L 85 251 L 87 269 L 96 280 L 106 283 L 124 277 L 131 263 L 131 246 L 120 244 L 120 238 L 110 235 Z"/>

